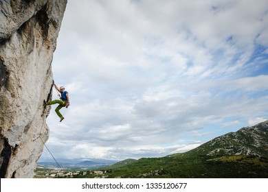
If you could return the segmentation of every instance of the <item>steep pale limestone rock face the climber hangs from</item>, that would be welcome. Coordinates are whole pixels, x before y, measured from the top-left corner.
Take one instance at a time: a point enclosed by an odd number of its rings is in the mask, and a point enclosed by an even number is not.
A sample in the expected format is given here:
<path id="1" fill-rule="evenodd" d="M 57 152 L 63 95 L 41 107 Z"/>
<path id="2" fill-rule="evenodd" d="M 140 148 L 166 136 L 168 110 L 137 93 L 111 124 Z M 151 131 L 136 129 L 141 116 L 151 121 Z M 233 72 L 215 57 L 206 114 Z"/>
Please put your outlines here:
<path id="1" fill-rule="evenodd" d="M 67 0 L 0 0 L 0 176 L 32 178 L 49 136 L 52 58 Z"/>

